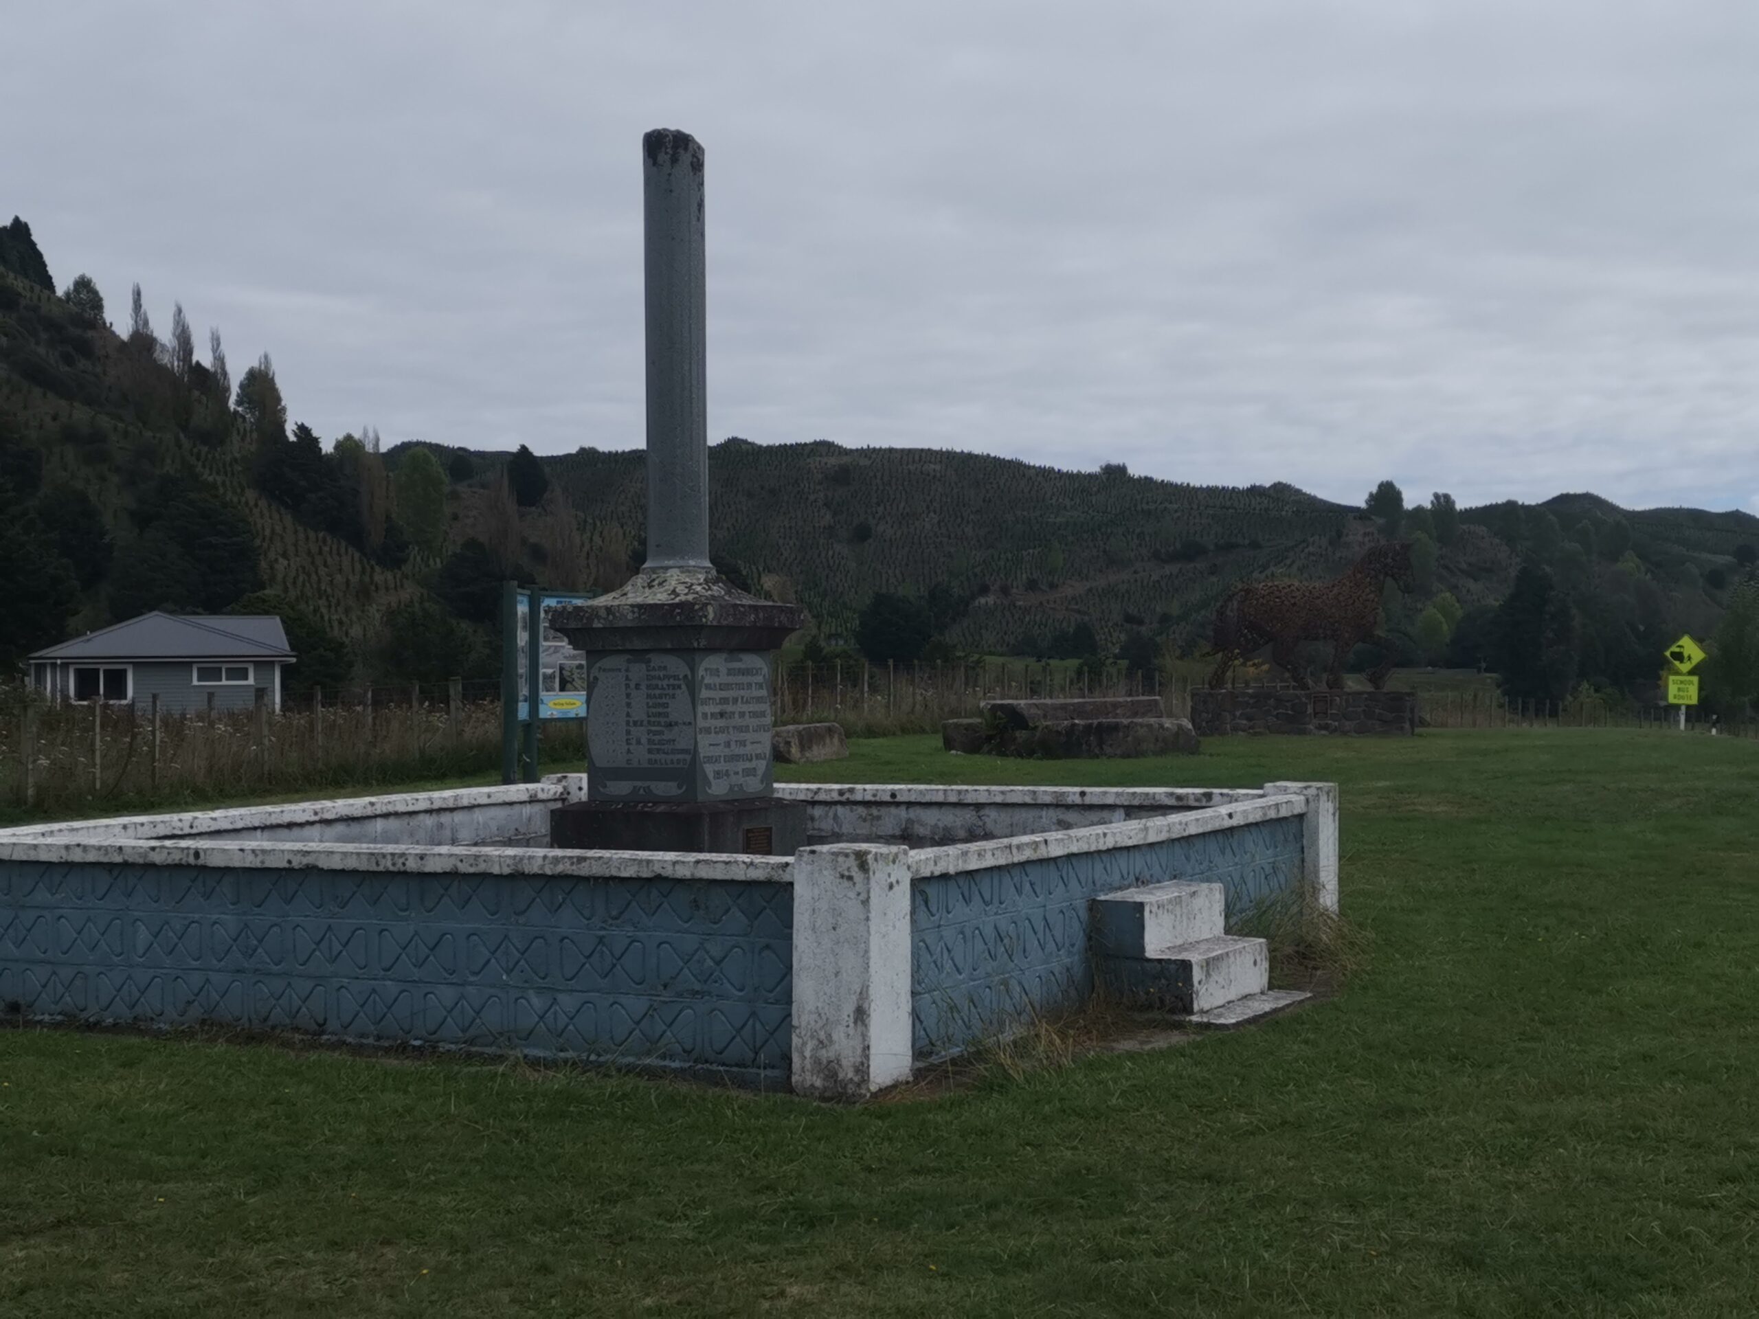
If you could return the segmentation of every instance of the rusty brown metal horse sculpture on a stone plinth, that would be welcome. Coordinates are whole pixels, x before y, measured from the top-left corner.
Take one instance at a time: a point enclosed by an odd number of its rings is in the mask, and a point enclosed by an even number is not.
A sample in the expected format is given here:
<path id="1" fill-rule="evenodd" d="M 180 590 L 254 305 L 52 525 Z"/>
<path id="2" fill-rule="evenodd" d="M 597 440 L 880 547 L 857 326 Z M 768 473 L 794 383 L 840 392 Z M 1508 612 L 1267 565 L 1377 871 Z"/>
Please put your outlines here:
<path id="1" fill-rule="evenodd" d="M 1228 593 L 1215 607 L 1215 630 L 1210 633 L 1210 654 L 1221 663 L 1210 674 L 1210 686 L 1228 681 L 1228 670 L 1265 645 L 1270 660 L 1303 691 L 1312 684 L 1296 661 L 1295 647 L 1302 642 L 1330 642 L 1332 665 L 1325 684 L 1344 686 L 1344 661 L 1351 647 L 1367 642 L 1379 645 L 1381 663 L 1369 672 L 1376 691 L 1386 686 L 1393 672 L 1391 645 L 1381 635 L 1381 589 L 1390 580 L 1409 591 L 1412 584 L 1411 545 L 1391 542 L 1376 545 L 1356 565 L 1332 582 L 1247 582 Z"/>

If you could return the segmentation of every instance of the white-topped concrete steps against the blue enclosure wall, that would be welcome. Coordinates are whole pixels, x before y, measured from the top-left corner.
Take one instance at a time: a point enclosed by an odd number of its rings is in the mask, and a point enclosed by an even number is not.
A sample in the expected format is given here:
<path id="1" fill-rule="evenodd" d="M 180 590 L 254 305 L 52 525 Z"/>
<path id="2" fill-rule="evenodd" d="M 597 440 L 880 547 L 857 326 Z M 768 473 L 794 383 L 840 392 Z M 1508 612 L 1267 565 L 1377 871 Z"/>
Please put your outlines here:
<path id="1" fill-rule="evenodd" d="M 1307 997 L 1270 992 L 1270 948 L 1226 934 L 1221 885 L 1164 883 L 1096 897 L 1089 930 L 1096 978 L 1131 1006 L 1230 1027 Z"/>

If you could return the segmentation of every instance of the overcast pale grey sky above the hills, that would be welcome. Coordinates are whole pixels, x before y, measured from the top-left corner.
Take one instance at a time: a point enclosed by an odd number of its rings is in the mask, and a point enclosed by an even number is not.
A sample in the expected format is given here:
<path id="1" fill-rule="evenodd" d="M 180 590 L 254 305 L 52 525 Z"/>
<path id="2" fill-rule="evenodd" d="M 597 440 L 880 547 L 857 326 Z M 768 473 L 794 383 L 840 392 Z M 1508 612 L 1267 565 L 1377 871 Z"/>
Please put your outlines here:
<path id="1" fill-rule="evenodd" d="M 327 440 L 642 443 L 640 135 L 709 434 L 1759 510 L 1759 5 L 9 9 L 0 208 Z M 5 216 L 0 216 L 4 222 Z"/>

